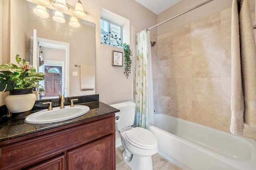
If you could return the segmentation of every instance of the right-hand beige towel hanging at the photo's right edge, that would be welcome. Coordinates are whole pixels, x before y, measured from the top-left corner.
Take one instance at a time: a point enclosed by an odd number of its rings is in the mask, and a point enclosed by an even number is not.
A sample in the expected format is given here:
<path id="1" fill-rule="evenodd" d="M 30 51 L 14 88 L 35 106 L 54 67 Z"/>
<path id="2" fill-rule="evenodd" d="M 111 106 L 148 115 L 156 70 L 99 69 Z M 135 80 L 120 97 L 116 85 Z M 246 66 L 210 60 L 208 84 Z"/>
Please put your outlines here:
<path id="1" fill-rule="evenodd" d="M 242 1 L 239 21 L 245 104 L 244 123 L 256 127 L 256 45 L 249 0 Z"/>

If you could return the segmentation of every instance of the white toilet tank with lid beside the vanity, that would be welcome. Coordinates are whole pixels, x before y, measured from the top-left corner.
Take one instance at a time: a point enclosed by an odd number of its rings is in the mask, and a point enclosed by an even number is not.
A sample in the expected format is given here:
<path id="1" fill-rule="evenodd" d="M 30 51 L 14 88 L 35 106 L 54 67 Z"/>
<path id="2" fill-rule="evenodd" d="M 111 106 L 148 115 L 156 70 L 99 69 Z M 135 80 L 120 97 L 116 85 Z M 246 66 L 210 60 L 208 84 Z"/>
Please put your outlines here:
<path id="1" fill-rule="evenodd" d="M 120 110 L 120 112 L 118 112 L 120 114 L 120 121 L 116 122 L 117 131 L 120 131 L 125 127 L 133 125 L 134 116 L 135 116 L 135 107 L 136 107 L 134 102 L 128 101 L 128 102 L 112 104 L 110 106 Z"/>

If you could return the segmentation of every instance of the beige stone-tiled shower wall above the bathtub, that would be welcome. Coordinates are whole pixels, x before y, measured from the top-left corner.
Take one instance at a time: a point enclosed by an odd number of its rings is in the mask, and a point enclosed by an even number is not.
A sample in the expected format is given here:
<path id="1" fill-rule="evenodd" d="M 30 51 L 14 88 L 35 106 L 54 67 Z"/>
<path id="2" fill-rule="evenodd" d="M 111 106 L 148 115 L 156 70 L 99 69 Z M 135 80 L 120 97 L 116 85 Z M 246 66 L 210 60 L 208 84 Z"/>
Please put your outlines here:
<path id="1" fill-rule="evenodd" d="M 231 8 L 151 41 L 155 110 L 229 132 Z M 244 137 L 256 140 L 256 128 L 245 125 Z"/>

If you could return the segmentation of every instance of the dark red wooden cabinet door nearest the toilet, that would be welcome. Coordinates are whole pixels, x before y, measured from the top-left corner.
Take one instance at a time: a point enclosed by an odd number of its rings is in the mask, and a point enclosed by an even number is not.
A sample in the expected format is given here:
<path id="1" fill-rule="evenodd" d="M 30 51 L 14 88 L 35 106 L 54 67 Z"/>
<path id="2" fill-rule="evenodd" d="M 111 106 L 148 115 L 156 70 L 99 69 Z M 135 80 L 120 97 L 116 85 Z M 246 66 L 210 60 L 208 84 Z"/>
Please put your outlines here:
<path id="1" fill-rule="evenodd" d="M 115 170 L 114 135 L 68 152 L 68 170 Z"/>

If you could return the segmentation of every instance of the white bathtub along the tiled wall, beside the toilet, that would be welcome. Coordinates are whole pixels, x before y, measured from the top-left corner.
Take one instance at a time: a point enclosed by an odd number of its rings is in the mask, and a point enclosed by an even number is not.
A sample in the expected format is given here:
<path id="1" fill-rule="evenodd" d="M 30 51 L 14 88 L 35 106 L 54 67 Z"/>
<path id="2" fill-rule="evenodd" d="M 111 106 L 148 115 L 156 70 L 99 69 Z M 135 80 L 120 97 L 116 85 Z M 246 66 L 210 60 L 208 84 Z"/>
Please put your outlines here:
<path id="1" fill-rule="evenodd" d="M 256 170 L 256 141 L 155 113 L 158 153 L 182 170 Z"/>

